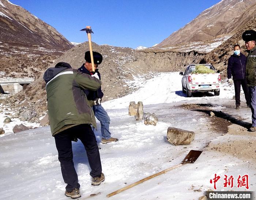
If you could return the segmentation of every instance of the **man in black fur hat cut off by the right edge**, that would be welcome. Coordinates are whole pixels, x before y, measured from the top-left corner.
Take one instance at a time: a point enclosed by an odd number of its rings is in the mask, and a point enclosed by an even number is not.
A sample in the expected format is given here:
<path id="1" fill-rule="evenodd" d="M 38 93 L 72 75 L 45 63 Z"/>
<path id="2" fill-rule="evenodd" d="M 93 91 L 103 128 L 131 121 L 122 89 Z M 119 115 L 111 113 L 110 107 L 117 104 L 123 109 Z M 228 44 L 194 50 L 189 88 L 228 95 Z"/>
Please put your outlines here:
<path id="1" fill-rule="evenodd" d="M 249 87 L 252 110 L 252 127 L 250 131 L 256 131 L 256 31 L 248 30 L 242 34 L 245 47 L 248 52 L 246 63 L 246 79 Z"/>

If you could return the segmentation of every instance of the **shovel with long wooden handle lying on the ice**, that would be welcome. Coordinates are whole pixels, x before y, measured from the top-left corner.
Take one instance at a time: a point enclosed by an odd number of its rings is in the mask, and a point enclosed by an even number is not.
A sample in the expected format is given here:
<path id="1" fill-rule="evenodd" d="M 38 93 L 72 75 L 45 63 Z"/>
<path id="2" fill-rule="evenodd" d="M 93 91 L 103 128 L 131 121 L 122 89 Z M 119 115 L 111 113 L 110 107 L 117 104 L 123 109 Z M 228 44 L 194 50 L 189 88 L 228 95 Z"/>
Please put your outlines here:
<path id="1" fill-rule="evenodd" d="M 120 193 L 120 192 L 123 192 L 123 191 L 125 191 L 125 190 L 127 190 L 127 189 L 129 189 L 129 188 L 131 188 L 131 187 L 133 187 L 133 186 L 135 186 L 135 185 L 138 185 L 138 184 L 140 184 L 140 183 L 143 183 L 143 182 L 145 182 L 145 181 L 147 181 L 147 180 L 149 180 L 149 179 L 152 179 L 152 178 L 154 178 L 154 177 L 156 177 L 156 176 L 158 176 L 158 175 L 160 175 L 160 174 L 169 172 L 170 170 L 175 169 L 175 168 L 178 168 L 178 167 L 180 167 L 180 166 L 182 166 L 182 165 L 185 165 L 185 164 L 187 164 L 187 163 L 194 163 L 194 162 L 196 161 L 196 159 L 200 156 L 201 153 L 202 153 L 202 151 L 191 150 L 191 151 L 188 153 L 188 155 L 184 158 L 184 160 L 182 160 L 182 162 L 181 162 L 180 164 L 175 165 L 175 166 L 172 166 L 172 167 L 170 167 L 170 168 L 168 168 L 168 169 L 165 169 L 165 170 L 163 170 L 163 171 L 161 171 L 161 172 L 158 172 L 158 173 L 156 173 L 156 174 L 153 174 L 153 175 L 151 175 L 151 176 L 148 176 L 148 177 L 146 177 L 146 178 L 144 178 L 144 179 L 142 179 L 142 180 L 139 180 L 139 181 L 137 181 L 137 182 L 135 182 L 135 183 L 133 183 L 133 184 L 131 184 L 131 185 L 127 185 L 127 186 L 124 187 L 124 188 L 118 189 L 117 191 L 114 191 L 114 192 L 108 194 L 107 197 L 116 195 L 116 194 L 118 194 L 118 193 Z"/>

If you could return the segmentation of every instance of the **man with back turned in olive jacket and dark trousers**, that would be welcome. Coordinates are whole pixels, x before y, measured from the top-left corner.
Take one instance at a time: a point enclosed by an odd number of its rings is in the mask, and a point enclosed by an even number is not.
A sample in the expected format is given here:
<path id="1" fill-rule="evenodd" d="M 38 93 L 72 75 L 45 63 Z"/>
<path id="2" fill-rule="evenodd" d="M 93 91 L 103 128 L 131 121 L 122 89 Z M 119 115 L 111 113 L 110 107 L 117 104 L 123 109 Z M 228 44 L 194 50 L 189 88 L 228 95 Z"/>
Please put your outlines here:
<path id="1" fill-rule="evenodd" d="M 65 195 L 79 198 L 80 185 L 74 168 L 72 140 L 78 138 L 86 149 L 92 185 L 105 180 L 101 169 L 101 158 L 91 125 L 96 126 L 95 117 L 83 90 L 97 90 L 101 81 L 94 75 L 82 74 L 68 63 L 59 62 L 44 73 L 48 102 L 50 129 L 59 153 L 61 173 L 67 184 Z"/>

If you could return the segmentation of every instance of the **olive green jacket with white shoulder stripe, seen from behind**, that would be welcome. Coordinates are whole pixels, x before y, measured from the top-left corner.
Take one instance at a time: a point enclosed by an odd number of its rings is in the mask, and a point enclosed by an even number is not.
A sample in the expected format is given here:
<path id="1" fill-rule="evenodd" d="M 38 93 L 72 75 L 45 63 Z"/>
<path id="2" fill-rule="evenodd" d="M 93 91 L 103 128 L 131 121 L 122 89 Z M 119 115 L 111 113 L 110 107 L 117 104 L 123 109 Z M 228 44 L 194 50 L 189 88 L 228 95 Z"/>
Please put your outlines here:
<path id="1" fill-rule="evenodd" d="M 79 124 L 88 123 L 96 127 L 94 113 L 82 89 L 99 89 L 99 79 L 72 68 L 51 67 L 45 71 L 44 80 L 53 136 Z"/>

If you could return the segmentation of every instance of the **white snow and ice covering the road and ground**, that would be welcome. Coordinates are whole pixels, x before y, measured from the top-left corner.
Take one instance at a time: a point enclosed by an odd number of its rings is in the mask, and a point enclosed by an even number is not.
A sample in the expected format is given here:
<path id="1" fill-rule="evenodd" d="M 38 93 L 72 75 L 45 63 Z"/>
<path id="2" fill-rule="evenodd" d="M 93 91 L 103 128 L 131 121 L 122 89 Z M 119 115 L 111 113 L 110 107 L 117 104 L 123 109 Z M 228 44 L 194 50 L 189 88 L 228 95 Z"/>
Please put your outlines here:
<path id="1" fill-rule="evenodd" d="M 251 161 L 205 149 L 209 142 L 218 144 L 227 140 L 227 135 L 209 130 L 206 126 L 208 118 L 199 112 L 178 106 L 186 103 L 214 103 L 218 105 L 216 110 L 226 109 L 225 103 L 235 104 L 231 100 L 234 86 L 224 82 L 218 97 L 199 94 L 187 98 L 181 91 L 181 78 L 178 72 L 161 73 L 146 81 L 134 93 L 103 103 L 111 118 L 112 136 L 118 137 L 119 141 L 102 144 L 100 130 L 95 131 L 106 177 L 99 186 L 91 185 L 90 166 L 82 143 L 73 143 L 74 164 L 81 185 L 80 199 L 107 199 L 108 193 L 179 164 L 191 149 L 203 150 L 194 164 L 181 166 L 108 199 L 198 199 L 207 189 L 213 189 L 210 180 L 215 173 L 222 179 L 216 183 L 217 191 L 246 190 L 244 187 L 237 188 L 236 181 L 234 188 L 223 187 L 225 174 L 232 175 L 235 180 L 239 174 L 248 174 L 249 191 L 256 190 L 256 169 Z M 244 121 L 251 122 L 251 111 L 245 107 L 243 97 L 241 100 L 243 102 L 238 115 Z M 144 112 L 154 112 L 159 119 L 157 126 L 146 126 L 142 121 L 135 121 L 134 117 L 128 116 L 130 101 L 142 101 Z M 229 112 L 232 114 L 236 110 L 229 109 Z M 100 127 L 99 122 L 97 126 Z M 195 140 L 190 145 L 171 145 L 166 141 L 169 126 L 194 131 Z M 229 140 L 232 141 L 232 138 Z M 1 137 L 0 152 L 1 199 L 69 199 L 64 196 L 65 183 L 49 126 Z"/>

